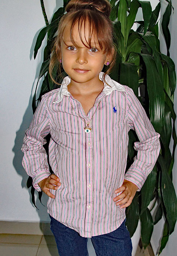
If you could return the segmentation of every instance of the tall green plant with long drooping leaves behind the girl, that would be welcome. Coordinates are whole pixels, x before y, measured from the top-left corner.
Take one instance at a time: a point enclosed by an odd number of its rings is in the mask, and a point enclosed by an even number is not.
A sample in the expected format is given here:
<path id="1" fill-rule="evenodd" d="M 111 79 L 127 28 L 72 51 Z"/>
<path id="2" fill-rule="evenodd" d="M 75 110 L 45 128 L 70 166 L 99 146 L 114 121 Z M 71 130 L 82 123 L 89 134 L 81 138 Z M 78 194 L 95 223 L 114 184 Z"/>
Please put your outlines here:
<path id="1" fill-rule="evenodd" d="M 159 1 L 154 11 L 152 11 L 149 1 L 110 1 L 112 5 L 110 18 L 114 26 L 114 40 L 118 51 L 116 65 L 110 76 L 112 79 L 126 84 L 134 90 L 135 95 L 145 108 L 147 116 L 150 118 L 155 130 L 161 135 L 161 151 L 157 163 L 147 177 L 141 191 L 136 192 L 132 204 L 126 208 L 126 224 L 132 236 L 138 225 L 138 220 L 141 220 L 141 237 L 143 247 L 146 248 L 150 242 L 153 226 L 162 218 L 162 214 L 164 214 L 165 226 L 159 254 L 165 247 L 169 235 L 174 231 L 177 219 L 177 198 L 172 183 L 174 151 L 177 143 L 174 127 L 176 114 L 173 108 L 176 73 L 174 63 L 169 57 L 170 33 L 168 29 L 173 7 L 171 0 L 164 1 L 168 2 L 168 6 L 163 14 L 161 26 L 166 41 L 167 56 L 160 52 L 160 42 L 158 39 L 159 22 L 157 20 L 161 10 L 161 1 Z M 49 61 L 51 45 L 55 39 L 59 19 L 65 12 L 66 4 L 67 0 L 64 0 L 64 6 L 54 13 L 49 24 L 43 1 L 41 0 L 46 27 L 40 31 L 36 40 L 34 58 L 46 34 L 47 44 L 44 49 L 44 59 L 39 74 L 39 79 L 42 77 L 44 79 L 37 103 L 43 94 L 57 88 L 57 85 L 51 81 L 49 76 Z M 135 22 L 139 8 L 142 8 L 143 20 Z M 136 31 L 131 29 L 134 23 L 138 24 Z M 37 88 L 38 83 L 36 90 Z M 35 112 L 36 91 L 33 97 L 32 108 L 33 112 Z M 172 153 L 169 148 L 171 137 L 173 138 Z M 136 134 L 130 131 L 127 168 L 131 165 L 136 154 L 133 148 L 136 140 Z M 31 187 L 32 189 L 32 200 L 35 204 L 31 177 L 28 179 L 27 187 Z M 39 199 L 41 200 L 41 193 L 39 193 Z M 149 210 L 147 207 L 152 200 L 154 200 L 154 203 Z M 151 210 L 156 202 L 158 202 L 158 208 L 153 221 Z"/>

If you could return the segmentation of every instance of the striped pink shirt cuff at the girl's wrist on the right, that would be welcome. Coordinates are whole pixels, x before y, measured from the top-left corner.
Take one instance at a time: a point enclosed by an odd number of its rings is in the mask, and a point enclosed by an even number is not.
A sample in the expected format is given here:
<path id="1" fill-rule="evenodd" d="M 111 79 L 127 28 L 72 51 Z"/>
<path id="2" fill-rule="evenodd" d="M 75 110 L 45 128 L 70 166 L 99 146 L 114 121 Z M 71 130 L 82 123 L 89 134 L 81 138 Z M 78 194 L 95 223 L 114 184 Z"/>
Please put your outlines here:
<path id="1" fill-rule="evenodd" d="M 130 167 L 124 175 L 125 180 L 131 181 L 138 187 L 137 191 L 141 190 L 143 184 L 146 181 L 146 178 L 147 176 L 142 172 L 142 170 L 138 170 L 135 167 Z"/>

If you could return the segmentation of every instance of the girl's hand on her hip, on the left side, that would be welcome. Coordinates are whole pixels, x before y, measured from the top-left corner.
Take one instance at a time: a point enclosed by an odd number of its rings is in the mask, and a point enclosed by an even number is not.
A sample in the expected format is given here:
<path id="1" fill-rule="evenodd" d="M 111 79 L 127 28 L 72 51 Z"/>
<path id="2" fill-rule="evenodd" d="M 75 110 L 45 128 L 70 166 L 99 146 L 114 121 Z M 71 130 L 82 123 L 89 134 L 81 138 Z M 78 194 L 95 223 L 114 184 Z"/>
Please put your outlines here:
<path id="1" fill-rule="evenodd" d="M 57 190 L 57 188 L 61 186 L 61 182 L 59 182 L 59 178 L 55 174 L 51 174 L 49 177 L 41 180 L 38 185 L 47 196 L 55 198 L 55 196 L 50 193 L 50 189 Z"/>

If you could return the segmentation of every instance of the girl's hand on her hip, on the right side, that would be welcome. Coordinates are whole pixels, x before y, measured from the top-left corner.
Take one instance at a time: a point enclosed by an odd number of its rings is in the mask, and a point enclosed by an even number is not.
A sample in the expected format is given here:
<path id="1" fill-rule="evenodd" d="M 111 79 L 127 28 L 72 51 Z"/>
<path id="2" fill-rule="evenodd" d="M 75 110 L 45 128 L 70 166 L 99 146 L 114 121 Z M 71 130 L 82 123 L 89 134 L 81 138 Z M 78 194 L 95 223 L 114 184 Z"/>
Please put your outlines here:
<path id="1" fill-rule="evenodd" d="M 128 207 L 131 204 L 137 190 L 138 187 L 134 183 L 124 180 L 122 186 L 115 190 L 115 193 L 122 193 L 119 196 L 116 196 L 113 200 L 116 202 L 122 199 L 121 201 L 117 202 L 116 205 L 118 206 L 123 204 L 120 206 L 120 208 Z"/>

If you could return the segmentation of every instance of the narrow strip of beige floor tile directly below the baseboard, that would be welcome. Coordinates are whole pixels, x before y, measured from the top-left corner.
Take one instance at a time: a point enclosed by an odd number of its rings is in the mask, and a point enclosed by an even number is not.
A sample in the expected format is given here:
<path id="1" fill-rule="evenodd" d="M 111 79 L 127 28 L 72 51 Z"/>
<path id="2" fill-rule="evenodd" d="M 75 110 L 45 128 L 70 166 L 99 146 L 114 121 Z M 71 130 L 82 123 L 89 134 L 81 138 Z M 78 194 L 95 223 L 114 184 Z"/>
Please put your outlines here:
<path id="1" fill-rule="evenodd" d="M 38 235 L 19 235 L 19 234 L 0 234 L 0 243 L 12 244 L 40 244 L 42 236 Z"/>

